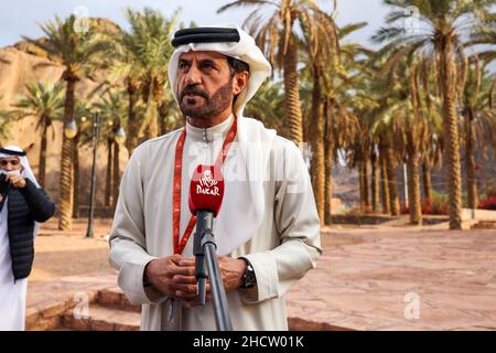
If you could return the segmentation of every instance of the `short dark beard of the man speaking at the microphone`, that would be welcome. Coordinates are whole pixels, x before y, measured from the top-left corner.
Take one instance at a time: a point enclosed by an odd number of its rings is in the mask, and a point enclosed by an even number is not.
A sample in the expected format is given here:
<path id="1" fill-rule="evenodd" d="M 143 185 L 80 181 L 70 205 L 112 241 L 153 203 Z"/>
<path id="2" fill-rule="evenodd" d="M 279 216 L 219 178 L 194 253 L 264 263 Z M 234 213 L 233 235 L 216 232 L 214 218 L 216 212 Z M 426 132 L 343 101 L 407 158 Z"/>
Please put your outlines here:
<path id="1" fill-rule="evenodd" d="M 188 98 L 187 94 L 194 93 L 205 100 L 200 106 L 192 106 L 187 104 L 188 99 L 197 100 L 198 97 Z M 194 104 L 194 103 L 193 103 Z M 233 79 L 229 79 L 227 84 L 218 88 L 211 97 L 205 90 L 197 88 L 195 85 L 190 85 L 183 88 L 180 95 L 180 109 L 181 111 L 195 119 L 208 119 L 226 110 L 233 104 Z"/>

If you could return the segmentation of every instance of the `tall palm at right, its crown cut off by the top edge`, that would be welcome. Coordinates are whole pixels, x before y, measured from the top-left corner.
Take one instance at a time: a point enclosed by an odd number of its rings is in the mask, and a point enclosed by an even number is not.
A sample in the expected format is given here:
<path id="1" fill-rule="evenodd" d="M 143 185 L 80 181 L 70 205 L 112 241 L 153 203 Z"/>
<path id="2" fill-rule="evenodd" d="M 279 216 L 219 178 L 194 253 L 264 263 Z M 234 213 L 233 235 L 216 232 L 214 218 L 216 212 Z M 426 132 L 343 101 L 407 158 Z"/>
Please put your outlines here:
<path id="1" fill-rule="evenodd" d="M 450 201 L 450 229 L 462 228 L 462 180 L 459 142 L 457 94 L 464 85 L 464 71 L 456 72 L 456 58 L 464 62 L 463 41 L 490 19 L 494 0 L 384 0 L 395 10 L 374 40 L 387 44 L 379 54 L 395 65 L 401 57 L 423 53 L 438 61 L 440 93 L 443 101 L 446 180 Z M 418 29 L 395 25 L 410 17 L 408 9 L 419 11 Z"/>

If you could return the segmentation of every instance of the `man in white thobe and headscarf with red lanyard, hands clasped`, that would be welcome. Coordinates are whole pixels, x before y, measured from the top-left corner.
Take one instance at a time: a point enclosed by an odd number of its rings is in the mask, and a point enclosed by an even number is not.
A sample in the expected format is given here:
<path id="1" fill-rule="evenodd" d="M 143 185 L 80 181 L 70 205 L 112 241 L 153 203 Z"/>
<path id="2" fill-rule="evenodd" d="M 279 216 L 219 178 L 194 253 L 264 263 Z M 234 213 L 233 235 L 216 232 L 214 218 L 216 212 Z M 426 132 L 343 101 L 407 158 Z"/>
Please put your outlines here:
<path id="1" fill-rule="evenodd" d="M 242 116 L 270 64 L 235 24 L 177 31 L 173 45 L 169 79 L 186 125 L 132 152 L 109 240 L 118 284 L 142 304 L 142 330 L 216 329 L 209 289 L 197 302 L 188 189 L 224 151 L 214 237 L 233 328 L 288 330 L 285 292 L 315 267 L 320 221 L 300 149 Z"/>

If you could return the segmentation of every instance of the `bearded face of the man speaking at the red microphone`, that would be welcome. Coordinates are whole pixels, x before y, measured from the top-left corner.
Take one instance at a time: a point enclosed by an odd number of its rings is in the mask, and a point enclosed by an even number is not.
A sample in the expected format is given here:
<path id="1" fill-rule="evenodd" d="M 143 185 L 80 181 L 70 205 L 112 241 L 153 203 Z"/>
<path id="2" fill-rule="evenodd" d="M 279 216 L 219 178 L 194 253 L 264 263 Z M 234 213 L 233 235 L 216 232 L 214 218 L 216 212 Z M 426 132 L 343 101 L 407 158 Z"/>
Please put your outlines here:
<path id="1" fill-rule="evenodd" d="M 230 75 L 227 58 L 220 53 L 182 53 L 177 77 L 181 111 L 191 118 L 208 119 L 231 109 L 233 98 L 247 78 L 240 86 L 238 75 Z"/>

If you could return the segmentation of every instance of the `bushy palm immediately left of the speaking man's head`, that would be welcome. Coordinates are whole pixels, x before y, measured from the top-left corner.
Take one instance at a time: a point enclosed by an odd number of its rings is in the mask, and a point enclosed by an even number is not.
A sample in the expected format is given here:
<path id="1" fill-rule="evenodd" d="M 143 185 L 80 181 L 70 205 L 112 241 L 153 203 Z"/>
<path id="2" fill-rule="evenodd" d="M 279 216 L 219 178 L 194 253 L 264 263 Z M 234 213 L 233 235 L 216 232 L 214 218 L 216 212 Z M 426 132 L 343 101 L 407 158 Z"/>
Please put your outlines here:
<path id="1" fill-rule="evenodd" d="M 117 55 L 114 74 L 126 77 L 129 95 L 128 126 L 129 138 L 126 146 L 129 153 L 138 146 L 140 137 L 159 136 L 159 119 L 168 116 L 166 67 L 172 55 L 171 33 L 175 26 L 177 13 L 171 20 L 159 11 L 144 9 L 143 12 L 126 10 L 131 30 L 121 30 L 117 35 Z M 147 110 L 144 119 L 137 116 L 137 105 L 142 98 Z"/>

